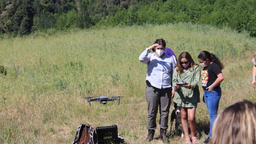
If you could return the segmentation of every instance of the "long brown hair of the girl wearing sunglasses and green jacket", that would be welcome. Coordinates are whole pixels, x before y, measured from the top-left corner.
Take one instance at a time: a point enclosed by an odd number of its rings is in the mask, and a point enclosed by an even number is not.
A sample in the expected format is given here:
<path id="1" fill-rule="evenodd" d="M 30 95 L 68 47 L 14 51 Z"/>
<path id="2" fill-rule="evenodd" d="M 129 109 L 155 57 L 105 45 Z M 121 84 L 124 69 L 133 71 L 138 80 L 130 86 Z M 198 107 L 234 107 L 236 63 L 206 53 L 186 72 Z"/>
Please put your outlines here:
<path id="1" fill-rule="evenodd" d="M 194 66 L 198 65 L 194 62 L 194 60 L 192 59 L 191 55 L 188 53 L 188 52 L 182 52 L 180 55 L 179 55 L 179 58 L 178 58 L 178 61 L 177 61 L 177 64 L 175 65 L 176 70 L 178 72 L 178 74 L 180 75 L 181 73 L 183 73 L 183 67 L 182 65 L 180 64 L 180 61 L 181 59 L 187 59 L 190 63 L 190 65 L 188 66 L 188 70 L 191 72 L 192 70 L 194 71 Z M 192 69 L 192 70 L 191 70 Z"/>

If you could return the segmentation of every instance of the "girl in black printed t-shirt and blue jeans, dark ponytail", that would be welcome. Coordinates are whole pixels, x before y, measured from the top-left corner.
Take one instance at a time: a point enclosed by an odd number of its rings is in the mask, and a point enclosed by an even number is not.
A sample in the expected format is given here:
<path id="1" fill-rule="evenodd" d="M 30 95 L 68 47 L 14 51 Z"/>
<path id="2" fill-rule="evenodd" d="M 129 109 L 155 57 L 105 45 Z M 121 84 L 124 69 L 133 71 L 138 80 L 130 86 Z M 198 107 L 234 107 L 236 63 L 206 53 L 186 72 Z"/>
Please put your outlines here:
<path id="1" fill-rule="evenodd" d="M 202 87 L 204 89 L 204 100 L 210 116 L 210 133 L 204 141 L 204 143 L 208 144 L 212 137 L 212 126 L 217 117 L 221 97 L 220 83 L 224 80 L 221 70 L 224 66 L 213 53 L 210 54 L 207 51 L 200 52 L 198 61 L 204 67 L 201 73 Z"/>

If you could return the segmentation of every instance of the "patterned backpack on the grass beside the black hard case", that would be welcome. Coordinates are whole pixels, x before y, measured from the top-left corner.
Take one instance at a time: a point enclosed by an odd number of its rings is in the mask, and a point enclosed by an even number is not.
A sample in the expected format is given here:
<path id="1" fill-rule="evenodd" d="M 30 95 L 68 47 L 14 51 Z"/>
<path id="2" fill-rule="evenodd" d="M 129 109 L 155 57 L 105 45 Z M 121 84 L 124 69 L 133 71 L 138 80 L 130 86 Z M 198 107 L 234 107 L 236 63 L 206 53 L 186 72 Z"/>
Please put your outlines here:
<path id="1" fill-rule="evenodd" d="M 80 124 L 76 131 L 76 136 L 72 144 L 96 144 L 97 135 L 93 127 L 89 124 Z"/>

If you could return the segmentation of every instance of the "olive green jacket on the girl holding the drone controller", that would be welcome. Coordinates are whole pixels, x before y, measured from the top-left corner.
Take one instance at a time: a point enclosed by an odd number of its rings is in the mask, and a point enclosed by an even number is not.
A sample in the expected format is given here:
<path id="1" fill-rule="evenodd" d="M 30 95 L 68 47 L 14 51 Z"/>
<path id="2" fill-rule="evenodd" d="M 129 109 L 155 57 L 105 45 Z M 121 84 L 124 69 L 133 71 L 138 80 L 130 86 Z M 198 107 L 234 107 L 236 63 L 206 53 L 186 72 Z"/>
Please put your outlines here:
<path id="1" fill-rule="evenodd" d="M 186 99 L 186 103 L 198 103 L 200 102 L 200 93 L 199 93 L 199 82 L 200 82 L 200 68 L 198 65 L 194 66 L 194 70 L 191 69 L 192 71 L 188 71 L 187 75 L 185 78 L 181 79 L 180 75 L 178 74 L 176 68 L 173 72 L 172 76 L 172 84 L 173 88 L 176 82 L 182 82 L 184 79 L 186 79 L 187 83 L 190 83 L 191 88 L 186 89 L 184 87 L 180 87 L 179 89 L 176 90 L 173 98 L 173 102 L 177 104 L 182 103 L 182 99 Z M 184 73 L 185 71 L 183 71 Z"/>

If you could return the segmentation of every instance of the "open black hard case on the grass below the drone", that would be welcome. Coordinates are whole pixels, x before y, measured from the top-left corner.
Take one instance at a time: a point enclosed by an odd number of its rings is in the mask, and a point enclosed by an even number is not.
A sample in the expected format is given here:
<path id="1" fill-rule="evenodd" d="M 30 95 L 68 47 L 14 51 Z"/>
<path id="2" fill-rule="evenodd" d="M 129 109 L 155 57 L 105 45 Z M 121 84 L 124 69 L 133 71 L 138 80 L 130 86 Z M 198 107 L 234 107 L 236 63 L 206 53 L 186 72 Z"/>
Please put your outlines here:
<path id="1" fill-rule="evenodd" d="M 97 127 L 96 133 L 98 144 L 118 143 L 118 133 L 116 125 Z"/>

